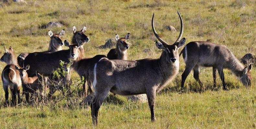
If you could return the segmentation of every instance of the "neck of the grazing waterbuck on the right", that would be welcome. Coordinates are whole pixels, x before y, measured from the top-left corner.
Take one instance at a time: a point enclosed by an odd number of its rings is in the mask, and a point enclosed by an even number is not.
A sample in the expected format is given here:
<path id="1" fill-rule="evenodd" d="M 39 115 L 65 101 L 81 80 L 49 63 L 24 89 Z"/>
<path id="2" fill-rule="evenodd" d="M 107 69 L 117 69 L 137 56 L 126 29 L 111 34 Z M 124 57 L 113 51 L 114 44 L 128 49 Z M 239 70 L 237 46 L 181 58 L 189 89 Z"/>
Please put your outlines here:
<path id="1" fill-rule="evenodd" d="M 243 75 L 244 65 L 241 64 L 238 59 L 232 54 L 229 58 L 228 68 L 237 76 L 241 77 Z"/>

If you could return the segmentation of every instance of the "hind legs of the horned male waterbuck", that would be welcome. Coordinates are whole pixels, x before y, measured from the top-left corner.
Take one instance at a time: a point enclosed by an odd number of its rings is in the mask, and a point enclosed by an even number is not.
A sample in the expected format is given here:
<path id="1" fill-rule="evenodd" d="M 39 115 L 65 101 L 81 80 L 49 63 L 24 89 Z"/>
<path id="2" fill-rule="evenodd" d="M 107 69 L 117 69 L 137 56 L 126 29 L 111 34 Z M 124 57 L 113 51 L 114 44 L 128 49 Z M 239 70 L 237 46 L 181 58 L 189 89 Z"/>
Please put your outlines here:
<path id="1" fill-rule="evenodd" d="M 98 113 L 99 113 L 99 108 L 101 106 L 101 104 L 103 103 L 104 99 L 107 97 L 109 93 L 109 90 L 106 91 L 102 91 L 102 92 L 98 92 L 95 93 L 93 96 L 93 101 L 91 103 L 91 115 L 92 115 L 92 123 L 94 125 L 98 124 Z"/>

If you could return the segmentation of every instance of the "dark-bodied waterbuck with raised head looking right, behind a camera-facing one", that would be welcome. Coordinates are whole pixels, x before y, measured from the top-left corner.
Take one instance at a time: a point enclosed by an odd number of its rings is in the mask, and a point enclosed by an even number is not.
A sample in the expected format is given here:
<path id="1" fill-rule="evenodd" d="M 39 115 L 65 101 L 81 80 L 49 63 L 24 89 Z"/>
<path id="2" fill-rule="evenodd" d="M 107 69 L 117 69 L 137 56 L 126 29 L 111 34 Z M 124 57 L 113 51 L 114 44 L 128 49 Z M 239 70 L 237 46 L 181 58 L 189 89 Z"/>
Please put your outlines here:
<path id="1" fill-rule="evenodd" d="M 86 26 L 83 27 L 81 31 L 76 32 L 76 27 L 73 26 L 73 45 L 70 45 L 68 41 L 65 40 L 65 46 L 68 46 L 68 50 L 61 50 L 52 53 L 46 52 L 34 52 L 30 53 L 24 60 L 24 66 L 30 65 L 30 69 L 27 73 L 30 76 L 39 74 L 44 76 L 49 76 L 52 74 L 53 70 L 56 70 L 59 65 L 59 60 L 64 62 L 69 62 L 69 58 L 74 61 L 72 68 L 76 67 L 76 62 L 82 59 L 84 54 L 83 44 L 89 42 L 89 38 L 84 34 L 86 31 Z"/>

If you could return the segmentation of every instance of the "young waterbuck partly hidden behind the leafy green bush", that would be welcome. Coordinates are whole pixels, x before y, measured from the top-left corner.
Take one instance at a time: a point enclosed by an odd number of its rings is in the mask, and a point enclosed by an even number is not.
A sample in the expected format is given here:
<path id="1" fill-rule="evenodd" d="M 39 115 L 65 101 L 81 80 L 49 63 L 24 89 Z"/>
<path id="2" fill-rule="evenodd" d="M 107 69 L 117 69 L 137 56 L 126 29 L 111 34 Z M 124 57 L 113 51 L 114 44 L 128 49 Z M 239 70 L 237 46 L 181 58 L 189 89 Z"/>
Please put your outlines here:
<path id="1" fill-rule="evenodd" d="M 66 89 L 68 86 L 72 84 L 71 74 L 70 74 L 70 66 L 73 64 L 73 60 L 69 63 L 65 63 L 60 60 L 61 69 L 57 70 L 57 73 L 53 73 L 50 76 L 49 80 L 49 87 L 50 91 L 48 97 L 51 99 L 52 95 L 56 92 L 56 90 L 63 90 L 65 87 Z M 56 75 L 59 74 L 59 75 Z"/>

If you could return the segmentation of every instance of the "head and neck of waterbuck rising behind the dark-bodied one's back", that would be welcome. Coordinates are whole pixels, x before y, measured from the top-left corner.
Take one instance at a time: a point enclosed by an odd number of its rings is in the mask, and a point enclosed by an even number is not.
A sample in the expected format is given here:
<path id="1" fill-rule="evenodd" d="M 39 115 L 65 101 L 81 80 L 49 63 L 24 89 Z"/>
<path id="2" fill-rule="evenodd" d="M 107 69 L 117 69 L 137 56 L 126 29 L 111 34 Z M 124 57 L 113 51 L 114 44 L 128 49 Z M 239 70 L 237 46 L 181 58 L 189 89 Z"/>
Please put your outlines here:
<path id="1" fill-rule="evenodd" d="M 61 30 L 59 34 L 53 34 L 51 30 L 48 31 L 48 35 L 50 36 L 50 44 L 49 44 L 49 52 L 56 52 L 62 50 L 62 46 L 64 42 L 61 40 L 61 36 L 65 34 L 65 30 Z"/>

